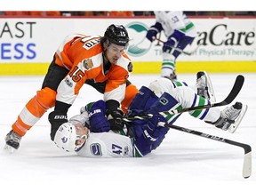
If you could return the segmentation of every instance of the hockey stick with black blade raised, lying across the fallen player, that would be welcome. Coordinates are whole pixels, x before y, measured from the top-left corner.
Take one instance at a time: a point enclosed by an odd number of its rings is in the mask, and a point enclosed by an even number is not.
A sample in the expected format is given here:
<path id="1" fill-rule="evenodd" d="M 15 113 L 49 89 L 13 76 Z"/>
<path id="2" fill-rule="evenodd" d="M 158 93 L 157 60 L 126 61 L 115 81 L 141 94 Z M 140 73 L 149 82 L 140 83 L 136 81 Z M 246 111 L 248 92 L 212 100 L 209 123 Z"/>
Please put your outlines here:
<path id="1" fill-rule="evenodd" d="M 232 90 L 229 92 L 225 100 L 222 100 L 221 102 L 218 102 L 218 103 L 210 103 L 204 106 L 196 106 L 191 108 L 180 108 L 175 110 L 163 111 L 163 112 L 160 112 L 160 114 L 164 113 L 164 114 L 175 115 L 175 114 L 180 114 L 188 111 L 194 111 L 194 110 L 199 110 L 204 108 L 221 107 L 221 106 L 228 105 L 233 100 L 235 100 L 237 94 L 241 91 L 243 84 L 244 84 L 244 76 L 242 75 L 236 76 L 235 84 L 233 85 Z M 136 120 L 136 119 L 151 118 L 152 116 L 153 114 L 147 114 L 146 116 L 132 116 L 132 117 L 126 118 L 126 122 L 128 121 L 131 122 L 132 120 Z"/>

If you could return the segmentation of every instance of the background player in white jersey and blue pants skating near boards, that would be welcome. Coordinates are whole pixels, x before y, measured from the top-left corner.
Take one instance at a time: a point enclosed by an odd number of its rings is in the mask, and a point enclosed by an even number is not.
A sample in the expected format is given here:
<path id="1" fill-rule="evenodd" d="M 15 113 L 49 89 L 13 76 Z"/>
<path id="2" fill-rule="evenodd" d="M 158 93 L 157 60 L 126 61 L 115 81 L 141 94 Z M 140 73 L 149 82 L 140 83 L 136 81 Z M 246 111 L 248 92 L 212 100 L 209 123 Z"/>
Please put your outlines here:
<path id="1" fill-rule="evenodd" d="M 156 23 L 149 28 L 146 37 L 150 42 L 153 42 L 157 34 L 164 32 L 167 41 L 162 47 L 161 76 L 176 80 L 176 60 L 181 53 L 178 50 L 184 50 L 188 44 L 192 44 L 197 36 L 196 28 L 184 12 L 162 11 L 154 13 Z"/>

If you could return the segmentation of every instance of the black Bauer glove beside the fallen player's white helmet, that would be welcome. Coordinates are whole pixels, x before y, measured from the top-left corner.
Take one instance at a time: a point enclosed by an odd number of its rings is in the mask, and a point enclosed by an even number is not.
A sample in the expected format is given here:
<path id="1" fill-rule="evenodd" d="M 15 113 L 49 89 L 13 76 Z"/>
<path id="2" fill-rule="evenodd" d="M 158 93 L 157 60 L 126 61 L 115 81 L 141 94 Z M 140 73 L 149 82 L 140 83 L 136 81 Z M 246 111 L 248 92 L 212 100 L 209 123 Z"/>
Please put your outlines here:
<path id="1" fill-rule="evenodd" d="M 67 113 L 62 111 L 52 111 L 48 116 L 48 120 L 51 124 L 50 136 L 51 140 L 53 141 L 60 125 L 68 122 Z"/>

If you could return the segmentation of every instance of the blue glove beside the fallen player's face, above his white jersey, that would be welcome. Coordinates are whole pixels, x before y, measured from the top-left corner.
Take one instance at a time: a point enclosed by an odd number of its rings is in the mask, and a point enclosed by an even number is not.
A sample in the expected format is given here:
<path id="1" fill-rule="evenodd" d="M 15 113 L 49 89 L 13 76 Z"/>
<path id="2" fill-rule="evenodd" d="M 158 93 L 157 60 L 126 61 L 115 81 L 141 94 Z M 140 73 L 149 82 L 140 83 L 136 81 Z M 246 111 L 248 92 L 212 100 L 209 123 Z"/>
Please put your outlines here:
<path id="1" fill-rule="evenodd" d="M 88 105 L 85 108 L 88 108 Z M 105 102 L 103 100 L 98 100 L 97 102 L 92 104 L 89 111 L 90 131 L 108 132 L 110 130 L 110 123 L 105 116 Z"/>

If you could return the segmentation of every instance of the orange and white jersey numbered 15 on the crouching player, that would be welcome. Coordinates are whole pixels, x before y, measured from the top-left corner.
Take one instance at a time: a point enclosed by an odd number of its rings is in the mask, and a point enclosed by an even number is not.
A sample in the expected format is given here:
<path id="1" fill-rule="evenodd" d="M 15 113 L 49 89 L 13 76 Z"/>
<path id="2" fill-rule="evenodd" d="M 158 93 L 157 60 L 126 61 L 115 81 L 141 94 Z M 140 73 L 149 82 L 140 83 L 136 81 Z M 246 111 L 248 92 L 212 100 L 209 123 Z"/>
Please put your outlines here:
<path id="1" fill-rule="evenodd" d="M 69 73 L 57 90 L 56 100 L 73 104 L 79 90 L 87 79 L 95 83 L 106 80 L 104 100 L 124 100 L 125 83 L 132 68 L 131 60 L 123 52 L 116 63 L 112 63 L 104 74 L 100 36 L 71 35 L 67 36 L 55 53 L 55 63 L 68 68 Z"/>

